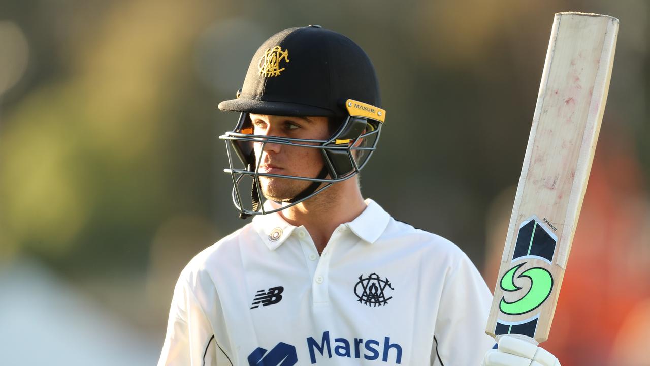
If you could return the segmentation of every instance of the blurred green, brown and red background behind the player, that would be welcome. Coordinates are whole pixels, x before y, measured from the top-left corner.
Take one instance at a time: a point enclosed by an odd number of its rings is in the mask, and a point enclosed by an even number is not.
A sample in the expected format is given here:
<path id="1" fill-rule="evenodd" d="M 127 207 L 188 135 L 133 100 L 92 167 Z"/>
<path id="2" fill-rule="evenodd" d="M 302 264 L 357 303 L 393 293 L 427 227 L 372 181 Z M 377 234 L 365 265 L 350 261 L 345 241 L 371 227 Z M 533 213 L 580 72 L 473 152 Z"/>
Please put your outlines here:
<path id="1" fill-rule="evenodd" d="M 244 221 L 218 135 L 250 57 L 319 24 L 367 51 L 388 119 L 363 193 L 496 283 L 553 14 L 621 21 L 551 339 L 650 365 L 647 0 L 0 0 L 0 363 L 153 365 L 174 283 Z M 386 169 L 389 167 L 389 169 Z"/>

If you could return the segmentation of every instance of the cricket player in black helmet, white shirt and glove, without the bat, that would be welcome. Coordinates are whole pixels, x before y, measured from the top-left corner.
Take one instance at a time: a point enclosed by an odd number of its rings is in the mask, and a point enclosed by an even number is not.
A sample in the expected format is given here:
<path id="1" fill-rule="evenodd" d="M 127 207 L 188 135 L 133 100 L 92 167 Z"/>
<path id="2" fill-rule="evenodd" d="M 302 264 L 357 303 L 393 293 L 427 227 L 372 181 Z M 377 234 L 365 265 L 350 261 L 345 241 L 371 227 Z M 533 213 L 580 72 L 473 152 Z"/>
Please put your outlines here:
<path id="1" fill-rule="evenodd" d="M 309 25 L 262 44 L 219 104 L 241 113 L 221 138 L 235 206 L 255 218 L 181 273 L 159 365 L 560 365 L 513 337 L 493 349 L 465 253 L 363 199 L 379 106 L 346 36 Z"/>

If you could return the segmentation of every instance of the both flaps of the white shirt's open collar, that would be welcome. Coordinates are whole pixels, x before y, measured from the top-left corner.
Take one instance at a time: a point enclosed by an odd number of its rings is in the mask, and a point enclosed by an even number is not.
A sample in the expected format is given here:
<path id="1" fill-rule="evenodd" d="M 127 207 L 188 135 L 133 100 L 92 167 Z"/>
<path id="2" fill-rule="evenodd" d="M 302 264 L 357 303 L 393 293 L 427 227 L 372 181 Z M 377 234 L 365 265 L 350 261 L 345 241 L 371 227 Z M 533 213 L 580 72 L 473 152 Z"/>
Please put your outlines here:
<path id="1" fill-rule="evenodd" d="M 365 203 L 367 204 L 365 210 L 357 218 L 343 225 L 348 227 L 361 240 L 372 244 L 382 235 L 391 216 L 372 199 L 366 199 Z M 265 210 L 274 210 L 279 206 L 277 203 L 267 200 L 264 203 L 264 208 Z M 275 250 L 281 246 L 296 229 L 294 225 L 285 221 L 279 212 L 255 215 L 253 228 L 270 250 Z"/>

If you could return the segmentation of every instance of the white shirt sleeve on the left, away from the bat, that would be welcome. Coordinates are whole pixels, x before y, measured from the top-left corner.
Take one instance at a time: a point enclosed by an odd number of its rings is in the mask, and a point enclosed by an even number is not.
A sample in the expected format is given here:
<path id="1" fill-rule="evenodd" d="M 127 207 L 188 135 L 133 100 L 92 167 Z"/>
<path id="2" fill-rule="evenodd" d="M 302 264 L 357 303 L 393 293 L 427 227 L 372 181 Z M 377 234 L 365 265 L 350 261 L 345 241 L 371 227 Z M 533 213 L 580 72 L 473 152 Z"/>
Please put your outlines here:
<path id="1" fill-rule="evenodd" d="M 158 366 L 222 366 L 214 331 L 183 275 L 174 289 L 167 335 Z"/>

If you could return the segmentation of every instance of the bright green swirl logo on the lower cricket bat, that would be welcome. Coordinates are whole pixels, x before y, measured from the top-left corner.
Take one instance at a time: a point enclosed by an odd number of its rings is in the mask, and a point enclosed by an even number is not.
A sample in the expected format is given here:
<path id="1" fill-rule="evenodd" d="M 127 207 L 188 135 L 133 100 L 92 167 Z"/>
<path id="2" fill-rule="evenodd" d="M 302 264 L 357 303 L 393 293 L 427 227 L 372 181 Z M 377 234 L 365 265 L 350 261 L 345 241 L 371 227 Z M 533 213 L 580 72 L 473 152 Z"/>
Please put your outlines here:
<path id="1" fill-rule="evenodd" d="M 508 292 L 515 292 L 522 289 L 515 285 L 514 277 L 515 273 L 521 266 L 526 264 L 523 262 L 517 264 L 511 268 L 506 274 L 501 277 L 501 289 Z M 501 298 L 499 303 L 499 309 L 508 315 L 520 315 L 528 313 L 533 309 L 539 307 L 543 304 L 547 298 L 551 295 L 551 290 L 553 289 L 553 277 L 551 272 L 545 270 L 544 268 L 534 267 L 528 268 L 524 272 L 521 272 L 517 278 L 528 277 L 530 279 L 530 289 L 526 294 L 515 302 L 507 302 L 506 298 Z"/>

